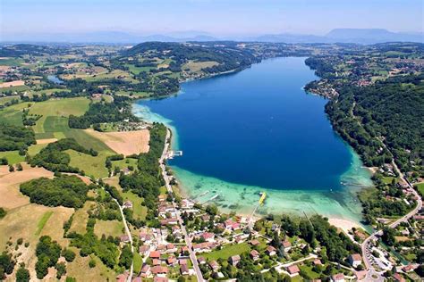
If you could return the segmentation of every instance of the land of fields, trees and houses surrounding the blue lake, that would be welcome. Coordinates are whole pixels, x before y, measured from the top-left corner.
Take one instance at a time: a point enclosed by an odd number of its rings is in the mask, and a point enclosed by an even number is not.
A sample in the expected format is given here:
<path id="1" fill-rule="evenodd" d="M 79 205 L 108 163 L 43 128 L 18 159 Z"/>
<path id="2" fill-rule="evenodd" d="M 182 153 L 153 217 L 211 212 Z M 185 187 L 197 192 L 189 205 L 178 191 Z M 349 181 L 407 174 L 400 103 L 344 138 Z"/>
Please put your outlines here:
<path id="1" fill-rule="evenodd" d="M 420 147 L 404 149 L 401 144 L 400 149 L 399 140 L 379 136 L 387 129 L 369 134 L 369 142 L 368 136 L 357 138 L 360 142 L 355 149 L 375 172 L 376 187 L 363 189 L 359 195 L 364 224 L 342 228 L 331 226 L 319 215 L 241 216 L 220 211 L 213 201 L 202 205 L 182 197 L 167 167 L 166 160 L 174 157 L 171 132 L 137 120 L 131 113 L 134 98 L 174 95 L 185 79 L 242 71 L 251 63 L 280 55 L 310 55 L 306 63 L 322 79 L 306 88 L 331 101 L 343 102 L 347 92 L 343 87 L 373 89 L 382 82 L 420 93 L 421 45 L 209 42 L 133 48 L 4 46 L 2 52 L 0 121 L 7 144 L 0 152 L 4 195 L 0 244 L 6 251 L 2 259 L 9 264 L 4 268 L 6 280 L 24 270 L 31 278 L 65 281 L 422 278 Z M 377 127 L 380 119 L 372 120 L 375 112 L 367 112 L 367 103 L 352 100 L 356 103 L 350 104 L 352 111 L 341 110 L 352 112 L 355 122 L 349 125 L 359 124 L 367 130 Z M 350 133 L 342 125 L 336 129 L 342 137 L 343 132 Z M 357 139 L 346 136 L 354 146 Z M 75 178 L 65 177 L 68 174 Z M 39 178 L 52 182 L 38 183 Z M 42 187 L 49 187 L 51 194 Z M 63 195 L 69 187 L 76 195 L 58 200 L 56 195 Z M 259 209 L 266 202 L 266 195 L 258 195 Z M 50 260 L 46 265 L 38 248 L 44 236 L 64 248 L 53 255 L 57 246 L 46 247 Z M 72 260 L 69 253 L 73 253 Z"/>

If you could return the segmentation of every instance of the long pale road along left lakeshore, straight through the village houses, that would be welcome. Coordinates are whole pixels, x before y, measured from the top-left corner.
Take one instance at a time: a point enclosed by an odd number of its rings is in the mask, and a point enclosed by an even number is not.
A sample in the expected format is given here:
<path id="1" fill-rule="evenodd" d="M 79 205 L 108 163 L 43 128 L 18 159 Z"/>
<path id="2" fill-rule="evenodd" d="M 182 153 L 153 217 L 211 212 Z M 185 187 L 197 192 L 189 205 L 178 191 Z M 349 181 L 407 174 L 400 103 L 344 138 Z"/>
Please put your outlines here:
<path id="1" fill-rule="evenodd" d="M 171 187 L 171 185 L 169 184 L 170 181 L 169 181 L 168 175 L 166 174 L 166 167 L 165 167 L 165 158 L 166 158 L 166 153 L 169 150 L 169 142 L 168 141 L 170 141 L 169 140 L 170 137 L 171 137 L 171 132 L 170 132 L 169 129 L 166 129 L 164 152 L 162 153 L 162 156 L 159 159 L 159 166 L 160 166 L 160 169 L 162 170 L 162 177 L 165 180 L 166 189 L 168 190 L 169 193 L 171 193 L 171 195 L 174 195 L 173 187 Z M 173 205 L 174 205 L 174 210 L 176 211 L 175 213 L 176 213 L 178 222 L 180 223 L 180 226 L 181 226 L 182 235 L 184 236 L 185 244 L 189 248 L 190 259 L 191 259 L 191 262 L 193 264 L 193 269 L 196 272 L 196 277 L 198 278 L 199 282 L 203 282 L 203 281 L 205 281 L 205 279 L 203 278 L 203 274 L 200 271 L 199 262 L 198 262 L 198 259 L 196 257 L 196 253 L 193 252 L 190 237 L 187 234 L 187 230 L 184 226 L 184 222 L 182 221 L 180 211 L 177 210 L 177 205 L 174 201 L 174 197 L 173 197 Z"/>

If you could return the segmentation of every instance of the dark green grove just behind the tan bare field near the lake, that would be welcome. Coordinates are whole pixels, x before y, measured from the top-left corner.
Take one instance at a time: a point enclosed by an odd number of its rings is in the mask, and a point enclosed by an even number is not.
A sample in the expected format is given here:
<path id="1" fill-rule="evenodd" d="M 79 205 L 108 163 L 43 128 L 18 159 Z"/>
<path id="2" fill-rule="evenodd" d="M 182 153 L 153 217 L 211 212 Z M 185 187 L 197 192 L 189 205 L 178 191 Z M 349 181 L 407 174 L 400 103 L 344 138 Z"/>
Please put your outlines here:
<path id="1" fill-rule="evenodd" d="M 117 122 L 123 120 L 137 121 L 131 113 L 131 108 L 125 97 L 114 97 L 113 103 L 92 103 L 89 111 L 82 116 L 69 116 L 69 127 L 71 129 L 88 129 L 93 124 L 103 122 Z"/>

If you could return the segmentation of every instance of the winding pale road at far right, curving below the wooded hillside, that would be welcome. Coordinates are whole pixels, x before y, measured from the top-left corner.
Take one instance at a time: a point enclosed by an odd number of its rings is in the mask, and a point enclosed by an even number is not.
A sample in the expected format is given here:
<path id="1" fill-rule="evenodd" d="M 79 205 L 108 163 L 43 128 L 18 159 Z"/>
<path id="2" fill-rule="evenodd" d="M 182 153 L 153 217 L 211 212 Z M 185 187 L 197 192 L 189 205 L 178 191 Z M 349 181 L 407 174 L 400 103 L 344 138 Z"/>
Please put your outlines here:
<path id="1" fill-rule="evenodd" d="M 399 170 L 399 168 L 397 167 L 397 165 L 394 161 L 392 161 L 392 165 L 393 165 L 394 169 L 399 173 L 399 177 L 402 178 L 402 180 L 405 181 L 405 183 L 408 184 L 408 187 L 410 187 L 412 189 L 412 194 L 415 195 L 418 198 L 417 205 L 415 206 L 415 208 L 412 211 L 408 212 L 406 215 L 404 215 L 399 220 L 395 220 L 394 222 L 392 222 L 391 224 L 388 225 L 390 228 L 396 228 L 399 224 L 401 224 L 402 222 L 406 222 L 407 220 L 411 219 L 412 216 L 414 216 L 415 214 L 417 214 L 421 210 L 422 199 L 421 199 L 420 195 L 418 194 L 418 192 L 413 189 L 413 187 L 411 186 L 411 183 L 409 183 L 407 181 L 407 179 L 404 177 L 402 171 Z M 381 277 L 381 275 L 377 272 L 377 270 L 374 269 L 371 261 L 369 260 L 369 258 L 371 257 L 369 242 L 371 242 L 371 240 L 375 239 L 377 236 L 381 236 L 382 234 L 383 234 L 382 230 L 377 230 L 376 232 L 371 234 L 367 239 L 365 239 L 365 241 L 361 245 L 365 268 L 366 268 L 366 270 L 368 270 L 367 277 L 366 277 L 367 280 L 368 279 L 369 280 L 375 280 L 375 281 L 383 281 L 384 280 L 384 278 Z M 377 276 L 378 278 L 376 279 L 376 278 L 373 278 L 372 276 Z"/>

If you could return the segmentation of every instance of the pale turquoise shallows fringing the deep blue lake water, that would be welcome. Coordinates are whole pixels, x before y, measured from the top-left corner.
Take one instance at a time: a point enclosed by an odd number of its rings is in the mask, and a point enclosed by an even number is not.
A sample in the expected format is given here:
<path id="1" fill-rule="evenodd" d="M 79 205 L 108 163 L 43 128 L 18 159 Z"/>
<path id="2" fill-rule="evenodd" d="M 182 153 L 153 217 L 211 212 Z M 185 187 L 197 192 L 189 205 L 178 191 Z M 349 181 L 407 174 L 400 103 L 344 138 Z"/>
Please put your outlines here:
<path id="1" fill-rule="evenodd" d="M 230 71 L 230 72 L 235 72 L 235 71 L 237 70 Z M 201 79 L 208 79 L 208 78 L 216 77 L 222 74 L 225 74 L 225 73 L 219 73 L 214 76 L 208 76 L 206 78 L 201 78 Z M 191 80 L 197 80 L 197 79 L 191 79 Z M 176 95 L 179 95 L 180 93 L 182 93 L 182 90 L 177 92 Z M 309 93 L 307 92 L 306 94 L 309 94 Z M 313 93 L 311 94 L 314 95 Z M 161 98 L 166 98 L 169 96 L 170 95 L 167 95 Z M 319 95 L 316 95 L 316 96 L 319 96 Z M 327 99 L 326 97 L 323 97 L 323 98 Z M 139 100 L 145 101 L 149 99 L 151 98 L 141 98 L 134 101 L 132 106 L 133 112 L 135 112 L 136 110 L 139 110 L 136 107 L 137 101 Z M 150 121 L 165 123 L 166 128 L 169 129 L 170 132 L 172 133 L 172 137 L 170 137 L 170 141 L 171 141 L 170 148 L 177 149 L 178 139 L 177 139 L 177 133 L 175 132 L 177 129 L 174 129 L 174 127 L 171 125 L 172 120 L 167 120 L 166 118 L 160 116 L 159 114 L 149 111 L 148 106 L 145 106 L 145 105 L 140 106 L 139 113 L 141 114 L 141 116 L 140 115 L 138 116 L 141 117 L 142 119 L 149 120 L 149 118 L 153 118 L 153 120 L 150 120 Z M 146 115 L 148 116 L 148 118 L 146 117 Z M 353 153 L 356 153 L 354 152 L 354 150 L 352 151 Z M 363 168 L 363 165 L 360 164 L 360 167 Z M 352 179 L 352 177 L 355 176 L 355 171 L 358 172 L 358 169 L 360 169 L 360 167 L 354 166 L 353 160 L 352 160 L 351 166 L 347 168 L 345 172 L 343 172 L 343 175 L 349 174 L 350 172 L 350 175 L 348 176 L 346 180 L 350 180 L 350 178 Z M 327 218 L 336 219 L 336 220 L 348 220 L 351 222 L 355 222 L 357 224 L 360 224 L 360 220 L 362 220 L 363 213 L 361 212 L 360 204 L 358 204 L 359 200 L 357 198 L 357 193 L 362 188 L 359 189 L 358 187 L 354 187 L 354 185 L 352 186 L 343 185 L 341 190 L 334 191 L 334 192 L 331 190 L 327 191 L 327 190 L 301 190 L 301 189 L 298 189 L 298 190 L 272 189 L 271 190 L 271 189 L 264 189 L 261 187 L 251 187 L 252 189 L 250 189 L 250 186 L 226 183 L 224 180 L 220 180 L 217 178 L 208 178 L 205 176 L 194 175 L 193 173 L 190 173 L 190 171 L 183 171 L 183 173 L 185 174 L 182 175 L 182 173 L 180 173 L 182 170 L 176 166 L 168 165 L 168 168 L 170 168 L 173 171 L 173 175 L 177 179 L 178 187 L 174 187 L 178 190 L 177 193 L 179 193 L 180 195 L 184 197 L 195 199 L 196 202 L 198 203 L 204 203 L 204 202 L 208 203 L 209 201 L 211 201 L 210 199 L 211 196 L 214 195 L 216 196 L 216 198 L 214 198 L 213 202 L 209 202 L 209 203 L 216 203 L 219 209 L 224 210 L 225 212 L 236 211 L 238 214 L 241 214 L 241 215 L 249 214 L 250 211 L 248 211 L 246 206 L 243 207 L 242 204 L 246 205 L 246 202 L 248 202 L 247 203 L 248 206 L 249 204 L 252 204 L 251 206 L 253 206 L 253 204 L 257 200 L 259 200 L 259 196 L 258 196 L 259 191 L 265 190 L 267 191 L 267 194 L 270 193 L 271 195 L 273 195 L 274 200 L 268 199 L 268 201 L 266 201 L 267 203 L 268 202 L 273 202 L 273 203 L 265 204 L 264 207 L 259 208 L 259 211 L 257 212 L 258 215 L 264 215 L 264 214 L 267 214 L 267 212 L 274 213 L 274 214 L 283 212 L 284 214 L 289 214 L 289 215 L 300 215 L 301 212 L 305 211 L 306 213 L 309 213 L 309 214 L 319 213 L 319 214 L 322 214 L 323 216 L 326 216 Z M 355 171 L 352 169 L 354 169 Z M 363 173 L 361 175 L 363 175 Z M 193 181 L 192 179 L 193 176 L 197 178 L 197 180 L 199 181 L 198 182 L 196 182 L 195 180 Z M 184 181 L 182 181 L 182 178 L 184 179 Z M 343 178 L 341 180 L 343 180 Z M 351 182 L 360 182 L 360 185 L 362 185 L 363 182 L 361 182 L 360 180 L 351 181 Z M 345 182 L 349 182 L 349 181 L 345 181 Z M 204 191 L 205 187 L 207 191 Z M 227 187 L 234 188 L 234 190 L 230 190 L 233 192 L 233 195 L 232 193 L 225 193 L 225 189 L 229 190 L 227 189 Z M 240 187 L 244 187 L 244 190 L 247 189 L 251 191 L 250 192 L 242 191 Z M 208 190 L 214 190 L 214 191 L 208 191 Z M 208 192 L 208 197 L 206 198 L 199 197 L 199 195 L 205 192 Z M 237 196 L 235 194 L 239 194 L 239 192 L 240 192 L 241 198 L 234 199 L 234 197 Z M 277 194 L 278 196 L 275 196 Z M 305 200 L 302 197 L 307 197 L 307 199 Z M 220 198 L 224 198 L 224 199 L 220 199 Z M 252 201 L 251 200 L 252 198 L 253 198 L 253 202 L 250 203 L 249 200 Z M 277 198 L 277 202 L 281 201 L 281 204 L 276 203 L 276 200 L 275 200 L 276 198 Z M 233 203 L 231 203 L 232 199 L 233 199 Z M 228 200 L 228 201 L 226 201 L 225 203 L 225 200 Z M 356 207 L 357 208 L 356 210 L 352 208 L 353 205 L 358 206 Z M 323 208 L 326 206 L 328 206 L 327 211 Z"/>

